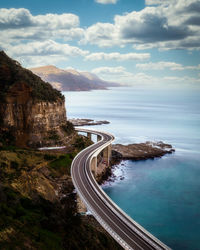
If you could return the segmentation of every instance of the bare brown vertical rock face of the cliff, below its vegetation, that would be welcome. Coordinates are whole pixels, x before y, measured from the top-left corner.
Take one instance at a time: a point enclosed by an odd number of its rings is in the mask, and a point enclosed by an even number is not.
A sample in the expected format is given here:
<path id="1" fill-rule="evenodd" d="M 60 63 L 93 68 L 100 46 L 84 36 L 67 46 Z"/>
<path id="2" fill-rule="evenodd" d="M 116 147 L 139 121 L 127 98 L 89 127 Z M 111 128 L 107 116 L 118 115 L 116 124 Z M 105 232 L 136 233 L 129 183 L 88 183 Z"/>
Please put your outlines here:
<path id="1" fill-rule="evenodd" d="M 6 102 L 0 106 L 1 129 L 11 131 L 17 146 L 48 146 L 64 143 L 62 126 L 66 124 L 63 100 L 35 102 L 25 83 L 12 86 Z"/>

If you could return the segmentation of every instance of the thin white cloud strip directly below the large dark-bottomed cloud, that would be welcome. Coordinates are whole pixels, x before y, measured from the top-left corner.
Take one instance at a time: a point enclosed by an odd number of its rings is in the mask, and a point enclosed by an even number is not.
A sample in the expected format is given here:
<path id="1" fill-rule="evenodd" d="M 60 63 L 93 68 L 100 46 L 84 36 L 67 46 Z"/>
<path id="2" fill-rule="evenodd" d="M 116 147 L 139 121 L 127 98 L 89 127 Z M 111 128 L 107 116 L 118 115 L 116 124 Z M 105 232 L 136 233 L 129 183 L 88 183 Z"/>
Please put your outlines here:
<path id="1" fill-rule="evenodd" d="M 126 61 L 126 60 L 146 60 L 150 58 L 149 53 L 127 53 L 120 54 L 118 52 L 113 53 L 91 53 L 85 57 L 88 61 L 100 61 L 100 60 L 117 60 L 117 61 Z"/>

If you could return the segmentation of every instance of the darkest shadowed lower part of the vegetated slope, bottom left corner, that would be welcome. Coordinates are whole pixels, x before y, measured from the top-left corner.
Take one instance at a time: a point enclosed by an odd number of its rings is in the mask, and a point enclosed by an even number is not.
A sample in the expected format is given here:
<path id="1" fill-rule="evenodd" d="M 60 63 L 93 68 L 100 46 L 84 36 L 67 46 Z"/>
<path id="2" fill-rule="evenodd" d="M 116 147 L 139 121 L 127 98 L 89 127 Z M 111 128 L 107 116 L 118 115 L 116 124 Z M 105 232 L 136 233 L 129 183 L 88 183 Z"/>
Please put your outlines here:
<path id="1" fill-rule="evenodd" d="M 0 187 L 0 249 L 121 249 L 115 241 L 75 216 L 74 197 L 51 203 Z"/>

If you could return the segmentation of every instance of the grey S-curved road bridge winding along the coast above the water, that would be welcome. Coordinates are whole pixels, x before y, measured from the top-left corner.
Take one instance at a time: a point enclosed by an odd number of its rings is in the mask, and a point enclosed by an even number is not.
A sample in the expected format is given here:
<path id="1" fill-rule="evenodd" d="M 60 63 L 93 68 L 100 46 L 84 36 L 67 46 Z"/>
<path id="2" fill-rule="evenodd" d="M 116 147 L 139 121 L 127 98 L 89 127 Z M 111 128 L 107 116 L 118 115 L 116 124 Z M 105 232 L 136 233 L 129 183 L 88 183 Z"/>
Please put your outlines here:
<path id="1" fill-rule="evenodd" d="M 114 137 L 88 129 L 77 131 L 95 134 L 100 139 L 81 151 L 74 158 L 71 167 L 73 184 L 93 216 L 124 249 L 170 249 L 125 214 L 94 179 L 91 168 L 97 164 L 95 159 L 103 149 L 111 145 Z"/>

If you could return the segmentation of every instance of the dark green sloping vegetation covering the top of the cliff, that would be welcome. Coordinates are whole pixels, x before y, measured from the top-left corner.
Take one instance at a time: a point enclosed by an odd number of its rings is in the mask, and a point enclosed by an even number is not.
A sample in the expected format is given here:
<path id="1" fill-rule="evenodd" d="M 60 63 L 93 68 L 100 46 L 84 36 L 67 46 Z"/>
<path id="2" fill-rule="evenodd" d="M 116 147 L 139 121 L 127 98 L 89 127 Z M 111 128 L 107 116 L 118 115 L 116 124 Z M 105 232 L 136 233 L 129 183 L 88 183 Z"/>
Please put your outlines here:
<path id="1" fill-rule="evenodd" d="M 11 59 L 4 51 L 0 51 L 0 101 L 4 101 L 11 87 L 16 84 L 26 84 L 30 87 L 34 101 L 55 102 L 64 100 L 60 91 L 30 70 L 23 68 L 19 62 Z"/>

